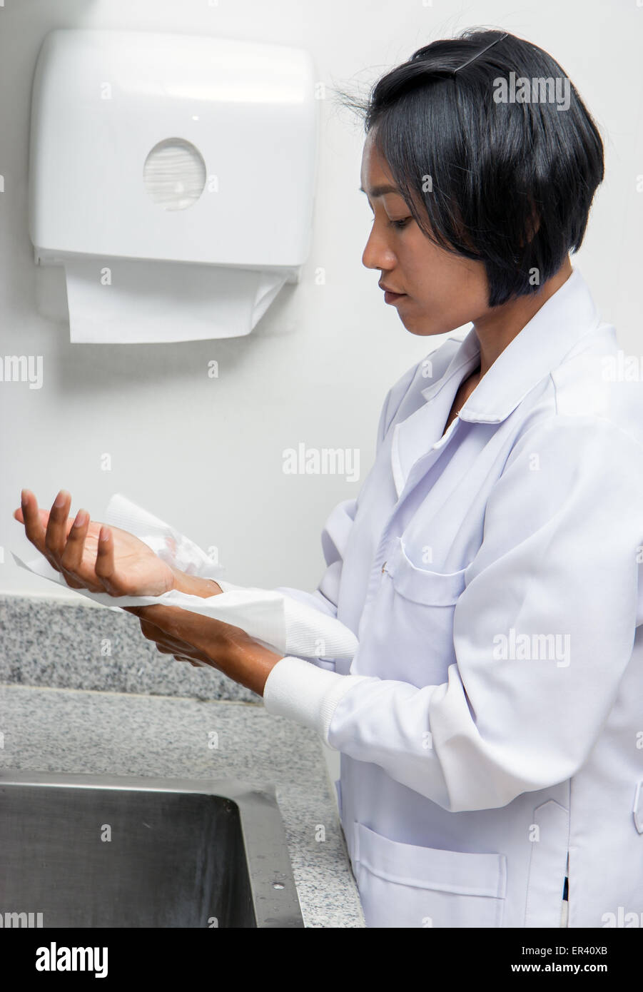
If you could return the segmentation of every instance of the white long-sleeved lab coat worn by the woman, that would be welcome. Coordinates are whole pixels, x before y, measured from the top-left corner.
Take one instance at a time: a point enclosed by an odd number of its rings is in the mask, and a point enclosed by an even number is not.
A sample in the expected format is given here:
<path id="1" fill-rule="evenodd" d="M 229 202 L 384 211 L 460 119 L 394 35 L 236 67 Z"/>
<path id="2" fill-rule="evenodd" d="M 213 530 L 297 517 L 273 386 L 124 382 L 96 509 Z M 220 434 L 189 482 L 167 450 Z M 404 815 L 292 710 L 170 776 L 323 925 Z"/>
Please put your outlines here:
<path id="1" fill-rule="evenodd" d="M 389 391 L 319 589 L 282 587 L 359 639 L 283 659 L 264 702 L 341 752 L 369 927 L 558 928 L 566 875 L 569 927 L 643 927 L 643 387 L 618 352 L 575 269 L 442 436 L 478 357 L 448 339 Z"/>

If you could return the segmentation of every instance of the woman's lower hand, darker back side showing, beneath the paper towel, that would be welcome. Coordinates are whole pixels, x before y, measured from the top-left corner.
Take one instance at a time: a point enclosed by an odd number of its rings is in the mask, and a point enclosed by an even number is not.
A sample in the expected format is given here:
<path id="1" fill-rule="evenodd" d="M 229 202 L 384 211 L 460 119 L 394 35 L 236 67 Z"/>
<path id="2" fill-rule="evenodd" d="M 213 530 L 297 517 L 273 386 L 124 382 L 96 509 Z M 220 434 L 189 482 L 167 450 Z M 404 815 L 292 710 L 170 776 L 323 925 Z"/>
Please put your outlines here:
<path id="1" fill-rule="evenodd" d="M 209 665 L 258 695 L 263 695 L 268 676 L 284 657 L 253 641 L 240 627 L 179 606 L 124 608 L 138 616 L 143 636 L 154 641 L 161 654 Z"/>

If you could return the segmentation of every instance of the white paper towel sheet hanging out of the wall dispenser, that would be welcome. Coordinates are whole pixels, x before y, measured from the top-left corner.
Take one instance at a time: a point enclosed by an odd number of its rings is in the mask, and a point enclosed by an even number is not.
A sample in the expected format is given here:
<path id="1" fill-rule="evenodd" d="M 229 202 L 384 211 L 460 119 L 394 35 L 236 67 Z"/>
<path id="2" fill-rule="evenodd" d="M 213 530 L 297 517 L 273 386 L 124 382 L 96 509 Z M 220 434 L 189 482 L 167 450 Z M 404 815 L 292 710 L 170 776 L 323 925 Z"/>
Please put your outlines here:
<path id="1" fill-rule="evenodd" d="M 201 341 L 249 334 L 287 273 L 146 259 L 65 259 L 76 343 Z"/>

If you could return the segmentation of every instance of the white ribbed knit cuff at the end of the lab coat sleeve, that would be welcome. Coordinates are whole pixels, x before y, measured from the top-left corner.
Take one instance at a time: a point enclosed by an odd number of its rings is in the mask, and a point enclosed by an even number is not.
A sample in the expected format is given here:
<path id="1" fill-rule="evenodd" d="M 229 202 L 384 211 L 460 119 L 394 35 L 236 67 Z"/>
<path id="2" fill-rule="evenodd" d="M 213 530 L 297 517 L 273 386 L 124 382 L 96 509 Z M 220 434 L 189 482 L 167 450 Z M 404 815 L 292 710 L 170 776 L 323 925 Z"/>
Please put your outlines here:
<path id="1" fill-rule="evenodd" d="M 327 747 L 328 728 L 339 700 L 368 676 L 340 676 L 303 658 L 282 658 L 273 667 L 264 686 L 264 706 L 273 716 L 285 716 L 320 734 Z M 337 748 L 333 748 L 334 751 Z"/>

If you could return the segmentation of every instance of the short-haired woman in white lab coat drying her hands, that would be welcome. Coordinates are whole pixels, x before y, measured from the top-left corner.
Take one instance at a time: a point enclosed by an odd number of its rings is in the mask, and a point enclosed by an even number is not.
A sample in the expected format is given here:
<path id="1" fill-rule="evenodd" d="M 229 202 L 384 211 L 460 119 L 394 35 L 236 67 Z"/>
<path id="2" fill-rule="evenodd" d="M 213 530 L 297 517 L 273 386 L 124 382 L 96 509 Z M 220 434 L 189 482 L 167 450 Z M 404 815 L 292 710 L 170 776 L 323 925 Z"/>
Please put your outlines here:
<path id="1" fill-rule="evenodd" d="M 368 926 L 643 921 L 643 402 L 609 374 L 614 329 L 570 261 L 600 138 L 558 62 L 500 32 L 420 49 L 357 105 L 364 265 L 411 333 L 472 322 L 389 391 L 318 590 L 282 590 L 359 648 L 282 658 L 190 611 L 134 611 L 161 651 L 341 753 Z M 68 510 L 25 493 L 15 516 L 72 586 L 226 587 Z"/>

